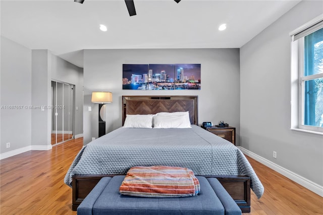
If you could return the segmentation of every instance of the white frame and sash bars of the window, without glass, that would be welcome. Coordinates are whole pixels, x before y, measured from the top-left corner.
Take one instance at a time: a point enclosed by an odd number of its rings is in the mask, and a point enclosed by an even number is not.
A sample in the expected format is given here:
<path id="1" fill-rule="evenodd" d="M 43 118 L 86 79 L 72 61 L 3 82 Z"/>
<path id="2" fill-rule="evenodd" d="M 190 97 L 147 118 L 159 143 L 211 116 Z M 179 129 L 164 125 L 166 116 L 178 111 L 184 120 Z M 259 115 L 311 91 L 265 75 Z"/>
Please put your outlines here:
<path id="1" fill-rule="evenodd" d="M 323 135 L 323 127 L 304 125 L 305 81 L 323 78 L 323 73 L 304 76 L 304 37 L 294 36 L 323 21 L 323 14 L 290 33 L 291 43 L 291 130 Z M 320 29 L 320 28 L 319 28 Z M 317 29 L 316 29 L 317 30 Z M 314 31 L 316 31 L 314 30 Z M 307 34 L 308 35 L 308 34 Z"/>

